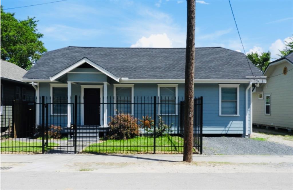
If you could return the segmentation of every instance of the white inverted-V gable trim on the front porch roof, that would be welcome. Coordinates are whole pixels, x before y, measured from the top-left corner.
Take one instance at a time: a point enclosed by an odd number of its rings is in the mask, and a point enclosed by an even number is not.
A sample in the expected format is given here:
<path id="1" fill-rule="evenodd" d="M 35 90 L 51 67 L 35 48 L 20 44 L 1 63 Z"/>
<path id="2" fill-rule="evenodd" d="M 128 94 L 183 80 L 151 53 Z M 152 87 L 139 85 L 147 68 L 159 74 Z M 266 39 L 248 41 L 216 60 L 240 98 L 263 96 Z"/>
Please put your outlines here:
<path id="1" fill-rule="evenodd" d="M 89 65 L 91 65 L 94 68 L 98 69 L 100 72 L 104 73 L 105 75 L 107 75 L 110 78 L 114 79 L 115 81 L 119 82 L 119 77 L 113 75 L 112 73 L 110 73 L 109 71 L 107 71 L 103 67 L 100 67 L 99 65 L 97 65 L 94 62 L 92 62 L 91 60 L 89 60 L 86 57 L 84 57 L 83 59 L 81 59 L 78 62 L 74 63 L 73 65 L 67 67 L 66 69 L 63 69 L 62 71 L 60 71 L 59 73 L 55 74 L 54 76 L 50 77 L 50 80 L 54 81 L 54 80 L 58 79 L 60 76 L 70 72 L 71 70 L 75 69 L 76 67 L 78 67 L 78 66 L 80 66 L 80 65 L 82 65 L 84 63 L 88 63 Z"/>

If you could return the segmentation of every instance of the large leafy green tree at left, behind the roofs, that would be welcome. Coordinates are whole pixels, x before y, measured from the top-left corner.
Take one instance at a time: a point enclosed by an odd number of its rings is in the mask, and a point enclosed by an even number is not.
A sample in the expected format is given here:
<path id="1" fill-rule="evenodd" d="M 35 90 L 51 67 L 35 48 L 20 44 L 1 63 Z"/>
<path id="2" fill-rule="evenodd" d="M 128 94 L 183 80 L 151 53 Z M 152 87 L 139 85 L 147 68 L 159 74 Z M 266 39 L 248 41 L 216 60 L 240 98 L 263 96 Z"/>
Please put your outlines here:
<path id="1" fill-rule="evenodd" d="M 14 13 L 5 13 L 1 6 L 1 59 L 29 70 L 47 49 L 39 39 L 38 20 L 17 20 Z"/>

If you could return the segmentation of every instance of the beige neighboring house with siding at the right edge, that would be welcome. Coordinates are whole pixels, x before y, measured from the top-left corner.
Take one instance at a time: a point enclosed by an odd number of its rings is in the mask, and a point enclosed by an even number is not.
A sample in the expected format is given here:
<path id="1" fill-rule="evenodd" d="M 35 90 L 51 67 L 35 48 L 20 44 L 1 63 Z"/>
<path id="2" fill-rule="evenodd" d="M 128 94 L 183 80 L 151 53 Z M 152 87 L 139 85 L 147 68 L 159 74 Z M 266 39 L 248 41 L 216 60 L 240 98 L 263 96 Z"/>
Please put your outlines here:
<path id="1" fill-rule="evenodd" d="M 253 89 L 253 124 L 293 129 L 293 53 L 271 62 Z"/>

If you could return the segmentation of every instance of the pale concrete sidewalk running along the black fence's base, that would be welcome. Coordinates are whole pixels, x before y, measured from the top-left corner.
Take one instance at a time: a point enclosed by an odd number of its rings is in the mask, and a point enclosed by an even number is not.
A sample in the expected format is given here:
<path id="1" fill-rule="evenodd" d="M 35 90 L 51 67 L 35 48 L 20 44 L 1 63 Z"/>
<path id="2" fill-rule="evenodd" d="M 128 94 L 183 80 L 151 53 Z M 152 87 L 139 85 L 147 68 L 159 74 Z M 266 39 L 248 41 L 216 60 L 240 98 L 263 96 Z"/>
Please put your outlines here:
<path id="1" fill-rule="evenodd" d="M 180 162 L 182 154 L 1 154 L 1 163 L 127 163 L 127 162 Z M 293 163 L 293 156 L 203 156 L 194 155 L 195 162 L 231 163 Z"/>

